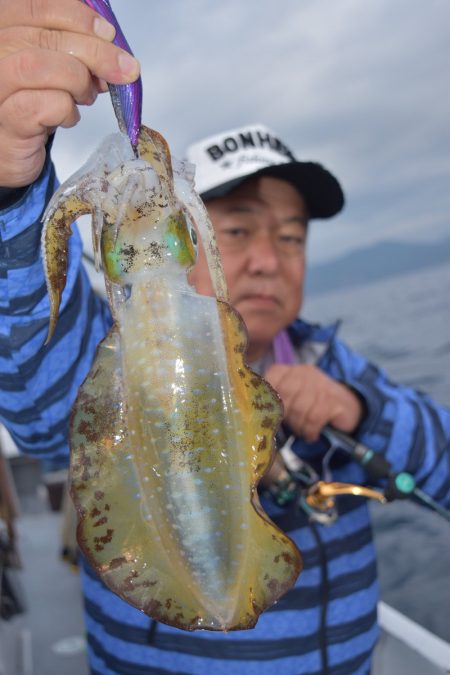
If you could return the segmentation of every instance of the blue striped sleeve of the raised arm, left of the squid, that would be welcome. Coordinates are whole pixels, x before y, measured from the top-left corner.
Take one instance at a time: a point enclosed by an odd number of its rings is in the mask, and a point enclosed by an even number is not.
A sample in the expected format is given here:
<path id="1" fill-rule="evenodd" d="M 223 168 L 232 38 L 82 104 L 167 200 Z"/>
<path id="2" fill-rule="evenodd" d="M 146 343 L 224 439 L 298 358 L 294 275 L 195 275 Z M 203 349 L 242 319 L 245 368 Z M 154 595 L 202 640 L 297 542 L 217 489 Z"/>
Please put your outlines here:
<path id="1" fill-rule="evenodd" d="M 49 345 L 49 302 L 40 252 L 43 210 L 57 187 L 50 158 L 40 178 L 0 212 L 0 421 L 22 452 L 68 457 L 68 417 L 109 324 L 81 266 L 76 227 L 60 317 Z"/>

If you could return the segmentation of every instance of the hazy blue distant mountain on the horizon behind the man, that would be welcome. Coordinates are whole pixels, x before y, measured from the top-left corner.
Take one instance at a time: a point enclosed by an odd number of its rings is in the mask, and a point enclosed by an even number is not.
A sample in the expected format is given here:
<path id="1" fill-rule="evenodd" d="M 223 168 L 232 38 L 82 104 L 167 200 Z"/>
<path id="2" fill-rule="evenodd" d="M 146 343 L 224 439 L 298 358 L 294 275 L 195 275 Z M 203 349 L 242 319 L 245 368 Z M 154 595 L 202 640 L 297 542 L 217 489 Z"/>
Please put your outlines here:
<path id="1" fill-rule="evenodd" d="M 450 264 L 450 239 L 432 244 L 383 241 L 308 269 L 310 295 L 366 284 L 414 270 Z"/>

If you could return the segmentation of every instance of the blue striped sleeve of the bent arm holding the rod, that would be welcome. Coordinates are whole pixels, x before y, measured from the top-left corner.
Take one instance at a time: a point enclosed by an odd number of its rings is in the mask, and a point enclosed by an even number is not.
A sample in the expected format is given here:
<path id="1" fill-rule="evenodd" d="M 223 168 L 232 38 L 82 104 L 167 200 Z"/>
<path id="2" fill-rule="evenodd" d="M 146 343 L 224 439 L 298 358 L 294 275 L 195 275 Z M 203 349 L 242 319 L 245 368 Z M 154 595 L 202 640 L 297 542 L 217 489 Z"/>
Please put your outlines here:
<path id="1" fill-rule="evenodd" d="M 339 340 L 331 345 L 330 357 L 329 373 L 365 402 L 359 440 L 383 453 L 395 471 L 413 474 L 418 487 L 434 499 L 450 505 L 450 410 L 426 394 L 394 384 Z"/>

